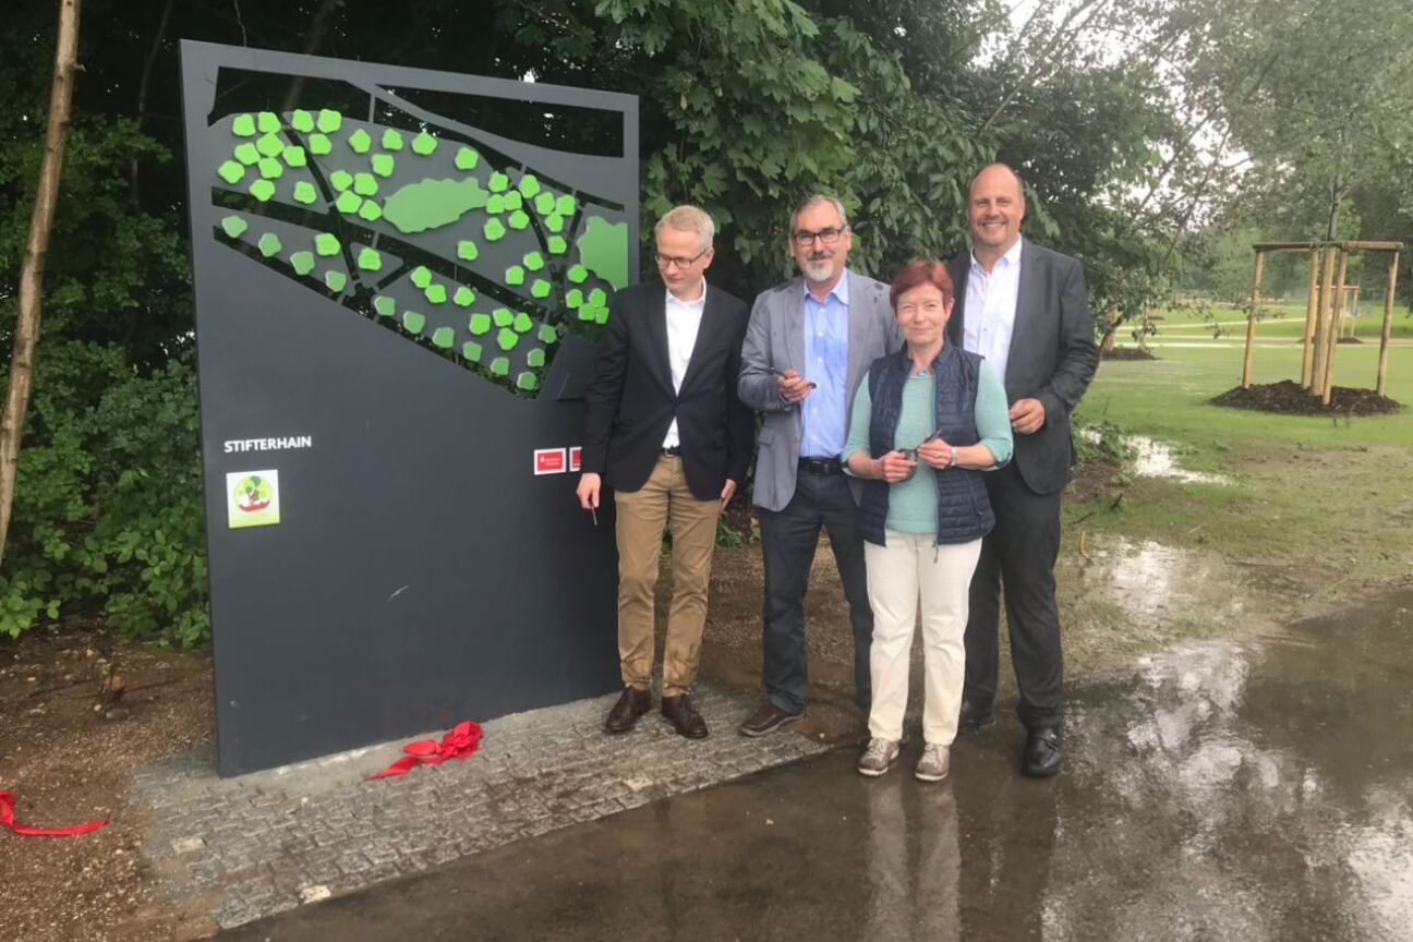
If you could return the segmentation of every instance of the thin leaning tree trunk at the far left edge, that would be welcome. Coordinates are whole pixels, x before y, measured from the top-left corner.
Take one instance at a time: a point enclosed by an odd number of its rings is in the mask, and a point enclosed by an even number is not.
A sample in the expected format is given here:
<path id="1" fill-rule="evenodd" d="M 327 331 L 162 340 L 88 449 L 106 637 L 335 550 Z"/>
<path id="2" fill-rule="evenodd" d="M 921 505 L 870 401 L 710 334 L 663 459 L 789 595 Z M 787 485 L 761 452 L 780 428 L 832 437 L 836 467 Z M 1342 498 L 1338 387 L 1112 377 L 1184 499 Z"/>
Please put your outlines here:
<path id="1" fill-rule="evenodd" d="M 20 267 L 20 316 L 14 325 L 14 353 L 10 357 L 10 388 L 0 417 L 0 559 L 10 532 L 14 479 L 20 463 L 24 414 L 30 410 L 34 378 L 34 345 L 40 339 L 40 302 L 44 288 L 44 260 L 54 230 L 54 209 L 59 201 L 59 174 L 69 133 L 73 73 L 78 71 L 79 0 L 59 0 L 59 40 L 54 54 L 54 82 L 49 89 L 49 121 L 44 133 L 40 185 L 34 192 L 30 239 Z"/>

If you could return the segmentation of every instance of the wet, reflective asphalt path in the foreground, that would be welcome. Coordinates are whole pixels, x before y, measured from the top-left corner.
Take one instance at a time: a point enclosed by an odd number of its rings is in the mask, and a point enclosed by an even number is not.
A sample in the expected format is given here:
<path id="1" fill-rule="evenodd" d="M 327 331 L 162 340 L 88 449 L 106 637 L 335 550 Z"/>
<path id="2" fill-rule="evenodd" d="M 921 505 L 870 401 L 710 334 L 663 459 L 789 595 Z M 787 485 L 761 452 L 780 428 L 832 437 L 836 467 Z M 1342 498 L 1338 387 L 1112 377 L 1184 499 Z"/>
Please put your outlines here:
<path id="1" fill-rule="evenodd" d="M 219 938 L 1413 939 L 1413 592 L 1075 692 L 1057 780 L 1022 740 L 941 785 L 916 733 L 877 781 L 838 751 Z"/>

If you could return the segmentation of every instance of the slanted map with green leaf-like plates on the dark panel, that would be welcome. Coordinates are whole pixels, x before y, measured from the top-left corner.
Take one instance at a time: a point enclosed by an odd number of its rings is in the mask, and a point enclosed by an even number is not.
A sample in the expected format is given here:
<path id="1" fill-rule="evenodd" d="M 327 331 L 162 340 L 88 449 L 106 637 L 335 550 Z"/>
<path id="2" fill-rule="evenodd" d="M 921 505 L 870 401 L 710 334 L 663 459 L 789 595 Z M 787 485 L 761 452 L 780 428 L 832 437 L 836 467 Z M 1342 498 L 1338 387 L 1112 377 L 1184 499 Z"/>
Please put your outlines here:
<path id="1" fill-rule="evenodd" d="M 622 205 L 382 90 L 336 109 L 213 117 L 213 236 L 523 397 L 627 284 Z M 475 131 L 475 129 L 469 129 Z"/>

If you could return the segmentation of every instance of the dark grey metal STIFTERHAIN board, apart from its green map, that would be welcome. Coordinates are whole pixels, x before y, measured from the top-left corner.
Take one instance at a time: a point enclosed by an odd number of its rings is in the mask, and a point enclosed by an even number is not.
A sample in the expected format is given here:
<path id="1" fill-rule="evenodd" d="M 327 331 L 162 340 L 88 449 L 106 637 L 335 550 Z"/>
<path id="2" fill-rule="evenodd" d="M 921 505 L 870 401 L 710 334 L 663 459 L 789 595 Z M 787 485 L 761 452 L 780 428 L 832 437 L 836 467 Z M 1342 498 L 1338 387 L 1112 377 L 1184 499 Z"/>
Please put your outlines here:
<path id="1" fill-rule="evenodd" d="M 352 288 L 332 298 L 220 242 L 233 205 L 216 205 L 229 195 L 212 177 L 232 145 L 213 110 L 223 68 L 616 112 L 625 154 L 584 185 L 619 198 L 637 274 L 636 99 L 182 44 L 222 774 L 613 689 L 612 508 L 595 527 L 577 475 L 531 473 L 534 449 L 579 443 L 582 401 L 567 397 L 582 391 L 592 329 L 569 325 L 536 395 L 517 395 L 360 312 Z M 503 136 L 495 147 L 513 150 Z M 510 157 L 545 161 L 543 150 Z M 584 181 L 577 162 L 554 177 Z M 242 212 L 294 237 L 260 206 Z M 297 435 L 312 446 L 223 446 Z M 227 528 L 226 475 L 263 469 L 280 473 L 280 523 Z"/>

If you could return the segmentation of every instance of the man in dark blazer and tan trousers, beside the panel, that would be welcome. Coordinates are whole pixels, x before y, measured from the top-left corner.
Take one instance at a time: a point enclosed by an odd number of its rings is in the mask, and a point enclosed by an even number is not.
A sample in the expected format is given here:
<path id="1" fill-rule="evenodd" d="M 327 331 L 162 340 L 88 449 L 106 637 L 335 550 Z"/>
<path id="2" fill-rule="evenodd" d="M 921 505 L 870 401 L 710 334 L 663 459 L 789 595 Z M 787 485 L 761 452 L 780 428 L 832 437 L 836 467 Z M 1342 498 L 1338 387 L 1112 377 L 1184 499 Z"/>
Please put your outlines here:
<path id="1" fill-rule="evenodd" d="M 657 222 L 661 284 L 615 297 L 585 391 L 579 506 L 613 489 L 623 695 L 605 729 L 626 733 L 651 709 L 653 596 L 663 527 L 673 530 L 673 606 L 663 650 L 663 716 L 706 736 L 691 685 L 706 623 L 716 518 L 745 479 L 753 418 L 736 398 L 746 304 L 706 284 L 715 226 L 695 206 Z"/>

